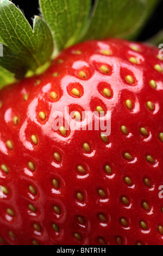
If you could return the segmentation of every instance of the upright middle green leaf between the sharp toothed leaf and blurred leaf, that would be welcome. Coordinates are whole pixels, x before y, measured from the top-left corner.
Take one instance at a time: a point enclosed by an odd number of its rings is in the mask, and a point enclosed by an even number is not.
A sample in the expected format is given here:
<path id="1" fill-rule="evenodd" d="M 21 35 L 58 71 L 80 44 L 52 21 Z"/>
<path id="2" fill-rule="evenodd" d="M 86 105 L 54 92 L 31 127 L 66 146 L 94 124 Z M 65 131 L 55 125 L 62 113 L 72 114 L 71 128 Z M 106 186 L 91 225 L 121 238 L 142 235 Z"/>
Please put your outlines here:
<path id="1" fill-rule="evenodd" d="M 39 0 L 58 50 L 73 45 L 86 26 L 91 0 Z"/>

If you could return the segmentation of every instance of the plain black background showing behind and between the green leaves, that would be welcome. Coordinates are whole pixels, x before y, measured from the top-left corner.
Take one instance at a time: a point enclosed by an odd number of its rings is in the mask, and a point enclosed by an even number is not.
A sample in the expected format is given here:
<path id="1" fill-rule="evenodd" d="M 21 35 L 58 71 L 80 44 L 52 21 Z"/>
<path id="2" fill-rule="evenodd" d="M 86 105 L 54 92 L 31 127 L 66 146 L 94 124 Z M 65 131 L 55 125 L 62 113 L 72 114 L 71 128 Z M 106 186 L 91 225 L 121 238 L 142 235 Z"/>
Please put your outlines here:
<path id="1" fill-rule="evenodd" d="M 21 10 L 23 10 L 23 13 L 25 14 L 30 24 L 32 25 L 32 17 L 34 17 L 34 15 L 39 14 L 39 4 L 38 4 L 39 0 L 12 0 L 12 2 L 18 5 Z M 146 41 L 147 39 L 155 35 L 157 32 L 159 32 L 160 29 L 163 29 L 162 17 L 163 17 L 163 1 L 161 0 L 158 8 L 155 10 L 153 16 L 149 20 L 146 27 L 143 28 L 143 31 L 141 32 L 137 40 Z"/>

